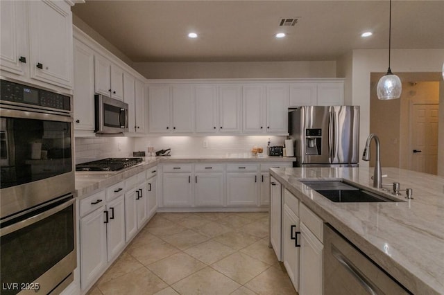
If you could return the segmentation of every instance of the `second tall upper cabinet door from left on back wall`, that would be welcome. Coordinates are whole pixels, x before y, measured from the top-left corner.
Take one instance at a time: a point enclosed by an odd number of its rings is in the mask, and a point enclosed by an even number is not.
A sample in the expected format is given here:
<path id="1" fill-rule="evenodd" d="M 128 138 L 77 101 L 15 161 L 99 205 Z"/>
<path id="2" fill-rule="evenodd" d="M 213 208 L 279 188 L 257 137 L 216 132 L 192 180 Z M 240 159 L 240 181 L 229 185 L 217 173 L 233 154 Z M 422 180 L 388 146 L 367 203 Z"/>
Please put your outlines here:
<path id="1" fill-rule="evenodd" d="M 190 85 L 171 87 L 173 133 L 193 132 L 194 93 Z"/>

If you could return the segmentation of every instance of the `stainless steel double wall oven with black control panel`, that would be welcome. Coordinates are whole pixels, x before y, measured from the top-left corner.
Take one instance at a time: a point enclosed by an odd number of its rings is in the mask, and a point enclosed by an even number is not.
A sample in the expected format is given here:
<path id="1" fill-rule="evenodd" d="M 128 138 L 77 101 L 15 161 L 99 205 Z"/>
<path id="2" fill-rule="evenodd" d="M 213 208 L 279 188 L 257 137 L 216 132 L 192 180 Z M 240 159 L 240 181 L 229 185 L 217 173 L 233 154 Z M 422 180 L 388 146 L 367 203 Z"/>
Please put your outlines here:
<path id="1" fill-rule="evenodd" d="M 0 82 L 1 294 L 58 294 L 77 260 L 71 96 Z"/>

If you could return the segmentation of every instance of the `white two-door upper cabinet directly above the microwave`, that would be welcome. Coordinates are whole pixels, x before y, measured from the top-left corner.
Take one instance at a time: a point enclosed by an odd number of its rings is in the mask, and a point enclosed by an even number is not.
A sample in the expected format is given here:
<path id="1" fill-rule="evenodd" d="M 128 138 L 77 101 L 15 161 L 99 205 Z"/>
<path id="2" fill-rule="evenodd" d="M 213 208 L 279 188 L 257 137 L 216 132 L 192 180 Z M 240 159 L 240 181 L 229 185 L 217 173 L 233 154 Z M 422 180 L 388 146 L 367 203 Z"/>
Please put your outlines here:
<path id="1" fill-rule="evenodd" d="M 96 93 L 123 100 L 123 70 L 99 54 L 94 55 L 94 81 Z"/>

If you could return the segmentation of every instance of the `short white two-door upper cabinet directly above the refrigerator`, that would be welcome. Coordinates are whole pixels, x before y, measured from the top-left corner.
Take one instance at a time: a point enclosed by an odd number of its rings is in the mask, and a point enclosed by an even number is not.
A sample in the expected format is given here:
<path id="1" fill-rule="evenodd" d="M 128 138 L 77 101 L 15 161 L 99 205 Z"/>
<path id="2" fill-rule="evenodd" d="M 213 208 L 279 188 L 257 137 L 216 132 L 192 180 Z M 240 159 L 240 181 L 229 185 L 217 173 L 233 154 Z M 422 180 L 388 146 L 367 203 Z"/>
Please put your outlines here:
<path id="1" fill-rule="evenodd" d="M 301 105 L 343 105 L 343 80 L 294 82 L 290 85 L 290 107 Z"/>

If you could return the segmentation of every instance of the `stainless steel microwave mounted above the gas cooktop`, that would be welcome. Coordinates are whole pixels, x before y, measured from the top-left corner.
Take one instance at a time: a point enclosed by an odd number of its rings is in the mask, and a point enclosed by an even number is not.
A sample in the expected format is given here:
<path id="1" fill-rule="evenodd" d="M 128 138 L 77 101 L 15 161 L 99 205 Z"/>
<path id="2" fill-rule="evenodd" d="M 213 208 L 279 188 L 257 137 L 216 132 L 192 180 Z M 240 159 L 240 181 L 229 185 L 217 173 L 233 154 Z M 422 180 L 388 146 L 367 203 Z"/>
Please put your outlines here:
<path id="1" fill-rule="evenodd" d="M 101 94 L 94 95 L 96 129 L 99 134 L 128 132 L 128 103 Z"/>

